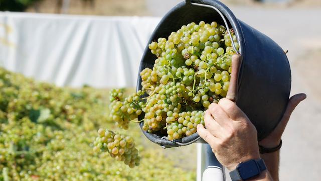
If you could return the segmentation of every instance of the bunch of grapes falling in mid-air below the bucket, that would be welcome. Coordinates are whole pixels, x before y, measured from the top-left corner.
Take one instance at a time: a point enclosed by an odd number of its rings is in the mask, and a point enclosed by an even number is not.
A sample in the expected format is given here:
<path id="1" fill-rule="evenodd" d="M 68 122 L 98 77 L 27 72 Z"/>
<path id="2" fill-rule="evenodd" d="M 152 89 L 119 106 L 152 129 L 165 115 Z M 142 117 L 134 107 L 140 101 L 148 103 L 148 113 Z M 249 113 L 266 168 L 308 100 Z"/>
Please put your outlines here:
<path id="1" fill-rule="evenodd" d="M 111 157 L 123 161 L 130 168 L 139 165 L 138 150 L 130 136 L 115 134 L 108 129 L 99 129 L 94 145 L 94 151 L 107 151 Z"/>

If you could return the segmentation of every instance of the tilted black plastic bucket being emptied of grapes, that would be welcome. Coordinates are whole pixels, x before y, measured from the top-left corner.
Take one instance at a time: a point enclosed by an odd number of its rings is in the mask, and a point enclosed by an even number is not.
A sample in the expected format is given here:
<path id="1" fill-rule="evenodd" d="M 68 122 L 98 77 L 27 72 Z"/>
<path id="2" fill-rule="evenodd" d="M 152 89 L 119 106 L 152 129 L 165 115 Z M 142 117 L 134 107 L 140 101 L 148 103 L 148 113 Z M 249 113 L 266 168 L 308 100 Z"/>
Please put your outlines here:
<path id="1" fill-rule="evenodd" d="M 192 0 L 182 2 L 170 10 L 155 28 L 148 44 L 159 37 L 168 37 L 171 32 L 176 32 L 183 25 L 191 22 L 216 21 L 220 25 L 225 25 L 217 11 L 195 4 L 216 8 L 223 14 L 229 27 L 234 30 L 240 45 L 239 53 L 243 58 L 239 67 L 236 104 L 254 124 L 258 140 L 261 140 L 279 123 L 287 106 L 291 89 L 291 70 L 288 59 L 282 48 L 272 39 L 238 20 L 231 10 L 219 1 Z M 139 72 L 146 67 L 152 68 L 156 59 L 148 49 L 148 44 L 140 62 Z M 141 87 L 141 77 L 138 75 L 137 91 Z M 142 119 L 143 115 L 140 118 Z M 142 125 L 143 123 L 140 123 L 140 128 Z M 143 130 L 142 132 L 149 140 L 164 148 L 188 145 L 195 141 L 204 142 L 197 133 L 170 141 L 165 135 L 147 133 Z"/>

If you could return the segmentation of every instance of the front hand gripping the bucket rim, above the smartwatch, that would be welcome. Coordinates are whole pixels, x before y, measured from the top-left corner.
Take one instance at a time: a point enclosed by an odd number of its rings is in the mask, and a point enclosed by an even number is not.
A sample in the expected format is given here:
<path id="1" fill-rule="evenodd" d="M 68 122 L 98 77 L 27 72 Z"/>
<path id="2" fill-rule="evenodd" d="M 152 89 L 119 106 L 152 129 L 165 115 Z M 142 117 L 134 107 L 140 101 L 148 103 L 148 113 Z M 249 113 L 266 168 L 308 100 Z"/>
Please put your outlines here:
<path id="1" fill-rule="evenodd" d="M 232 170 L 240 162 L 260 158 L 256 129 L 234 102 L 223 98 L 212 103 L 204 120 L 206 129 L 199 124 L 197 132 L 223 166 Z"/>

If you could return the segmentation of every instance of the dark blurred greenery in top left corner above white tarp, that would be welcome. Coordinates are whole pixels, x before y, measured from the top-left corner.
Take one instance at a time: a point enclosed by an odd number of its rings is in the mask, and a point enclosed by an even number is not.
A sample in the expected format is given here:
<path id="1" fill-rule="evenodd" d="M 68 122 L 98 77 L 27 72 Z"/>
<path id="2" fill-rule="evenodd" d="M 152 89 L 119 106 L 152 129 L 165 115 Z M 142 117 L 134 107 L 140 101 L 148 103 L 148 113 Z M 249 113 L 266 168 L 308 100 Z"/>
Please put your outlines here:
<path id="1" fill-rule="evenodd" d="M 42 0 L 0 0 L 0 11 L 23 12 L 39 1 Z"/>

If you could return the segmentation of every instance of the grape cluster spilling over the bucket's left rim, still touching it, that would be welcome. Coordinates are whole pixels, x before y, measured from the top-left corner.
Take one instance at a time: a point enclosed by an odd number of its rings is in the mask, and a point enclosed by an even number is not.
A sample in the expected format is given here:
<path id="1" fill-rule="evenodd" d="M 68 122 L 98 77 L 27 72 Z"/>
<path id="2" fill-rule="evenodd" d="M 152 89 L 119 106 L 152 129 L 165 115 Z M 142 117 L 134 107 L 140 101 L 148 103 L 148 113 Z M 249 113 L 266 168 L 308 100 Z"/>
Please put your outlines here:
<path id="1" fill-rule="evenodd" d="M 112 89 L 110 91 L 109 117 L 116 122 L 118 127 L 127 130 L 129 121 L 137 119 L 142 112 L 143 103 L 140 96 L 144 92 L 138 91 L 125 99 L 123 98 L 123 92 L 123 89 Z"/>

